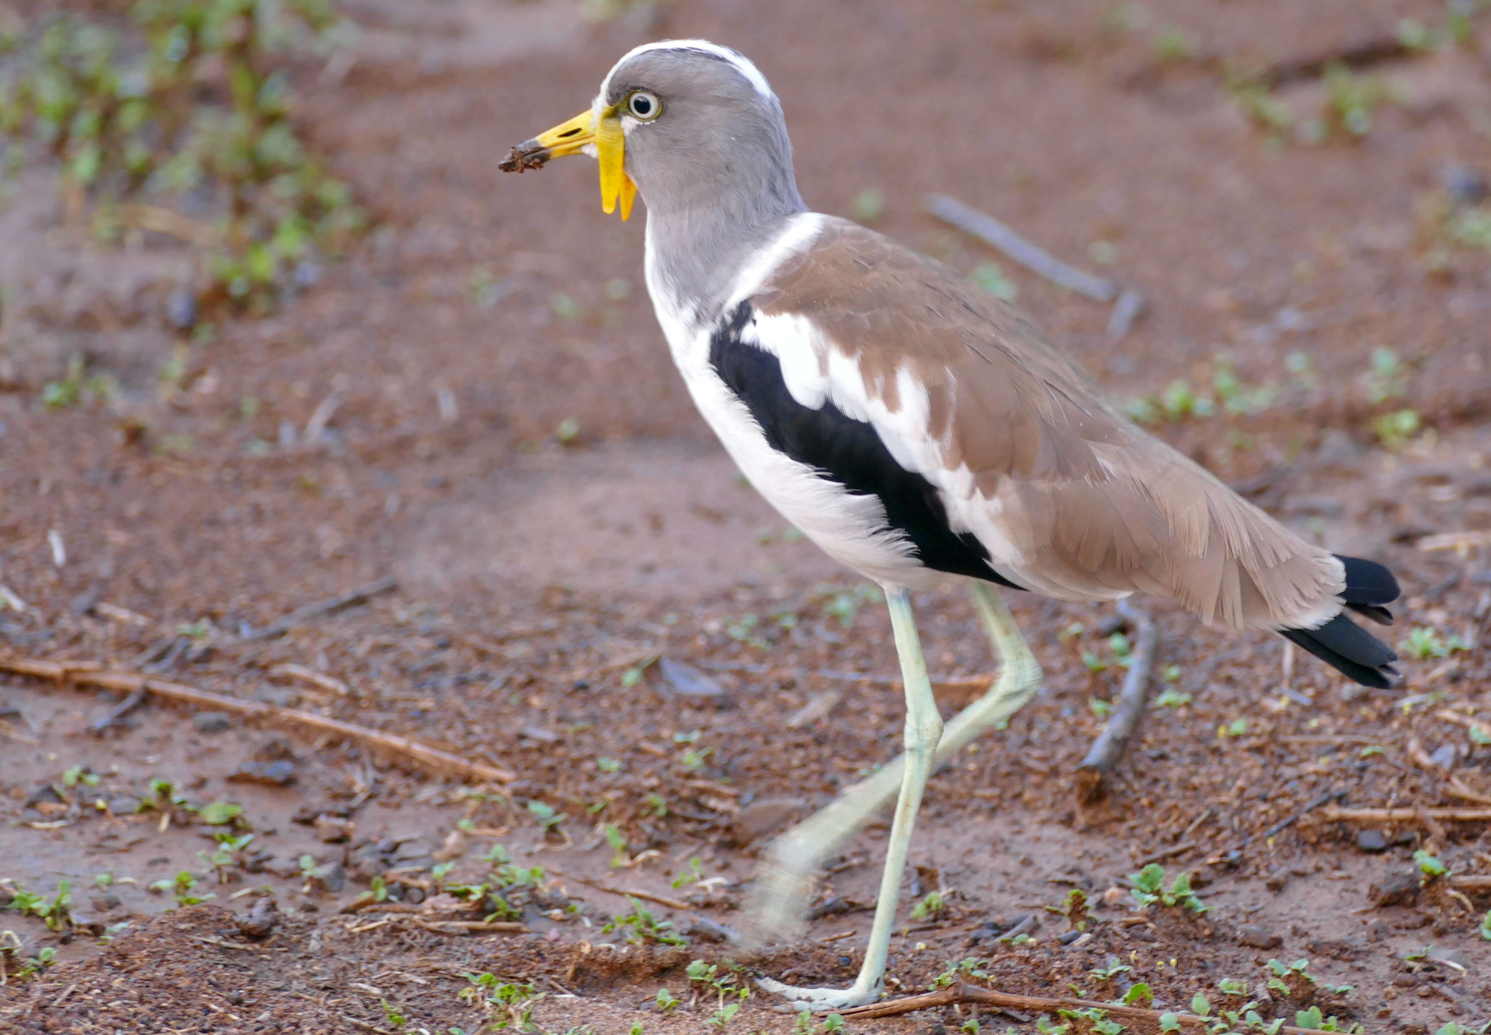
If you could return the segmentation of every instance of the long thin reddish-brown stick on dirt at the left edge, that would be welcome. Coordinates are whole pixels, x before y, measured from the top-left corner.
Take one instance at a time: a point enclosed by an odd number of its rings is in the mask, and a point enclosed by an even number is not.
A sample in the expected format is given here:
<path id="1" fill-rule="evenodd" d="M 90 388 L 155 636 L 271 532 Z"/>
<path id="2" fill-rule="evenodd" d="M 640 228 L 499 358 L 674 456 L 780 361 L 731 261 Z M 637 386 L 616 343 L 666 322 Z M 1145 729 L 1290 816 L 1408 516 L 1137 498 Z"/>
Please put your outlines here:
<path id="1" fill-rule="evenodd" d="M 271 722 L 309 726 L 312 729 L 321 729 L 328 734 L 346 737 L 347 740 L 356 741 L 364 747 L 397 755 L 435 773 L 458 776 L 465 780 L 510 783 L 516 778 L 516 774 L 508 770 L 501 770 L 495 765 L 485 765 L 482 762 L 471 762 L 459 755 L 453 755 L 452 752 L 425 744 L 423 741 L 412 740 L 409 737 L 383 734 L 376 729 L 368 729 L 367 726 L 341 722 L 340 719 L 328 719 L 327 716 L 319 716 L 315 711 L 280 708 L 262 701 L 245 701 L 242 698 L 210 693 L 209 690 L 198 690 L 195 686 L 167 683 L 166 680 L 149 679 L 139 673 L 103 671 L 97 662 L 66 665 L 55 661 L 40 661 L 34 658 L 0 658 L 0 671 L 15 673 L 18 676 L 36 676 L 37 679 L 49 679 L 57 683 L 101 686 L 109 690 L 125 690 L 128 693 L 154 693 L 158 698 L 180 701 L 182 704 L 191 704 L 198 708 L 233 711 L 240 716 L 253 716 L 258 719 L 268 719 Z"/>

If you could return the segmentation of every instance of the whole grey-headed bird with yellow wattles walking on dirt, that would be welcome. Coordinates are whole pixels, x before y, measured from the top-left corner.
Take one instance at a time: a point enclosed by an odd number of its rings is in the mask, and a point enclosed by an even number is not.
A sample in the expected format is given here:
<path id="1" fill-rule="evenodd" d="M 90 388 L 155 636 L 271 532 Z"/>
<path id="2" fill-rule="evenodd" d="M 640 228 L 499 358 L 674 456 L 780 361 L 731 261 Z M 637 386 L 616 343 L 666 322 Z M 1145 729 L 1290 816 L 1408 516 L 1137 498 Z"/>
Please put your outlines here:
<path id="1" fill-rule="evenodd" d="M 759 984 L 799 1010 L 884 993 L 915 813 L 932 768 L 999 728 L 1042 680 L 1003 591 L 1135 592 L 1208 625 L 1272 629 L 1388 688 L 1393 573 L 1308 543 L 1135 425 L 1030 319 L 957 271 L 798 192 L 783 107 L 760 70 L 707 40 L 625 54 L 590 107 L 513 148 L 504 172 L 587 154 L 601 207 L 647 209 L 644 270 L 672 359 L 754 489 L 878 583 L 907 719 L 896 764 L 780 835 L 753 881 L 759 937 L 790 937 L 817 866 L 896 799 L 863 965 L 847 989 Z M 911 594 L 965 583 L 1000 661 L 944 722 Z"/>

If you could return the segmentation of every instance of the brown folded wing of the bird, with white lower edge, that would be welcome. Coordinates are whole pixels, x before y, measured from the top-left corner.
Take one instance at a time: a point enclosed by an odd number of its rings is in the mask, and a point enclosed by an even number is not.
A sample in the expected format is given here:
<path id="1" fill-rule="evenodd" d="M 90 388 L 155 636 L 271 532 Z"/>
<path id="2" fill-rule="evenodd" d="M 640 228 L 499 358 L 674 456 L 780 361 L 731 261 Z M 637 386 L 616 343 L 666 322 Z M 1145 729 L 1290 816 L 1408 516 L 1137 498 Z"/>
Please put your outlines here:
<path id="1" fill-rule="evenodd" d="M 924 386 L 941 470 L 921 473 L 1015 582 L 1065 600 L 1145 591 L 1233 628 L 1340 610 L 1336 558 L 1135 427 L 1033 324 L 947 267 L 829 219 L 753 304 L 808 318 L 892 413 L 902 371 Z"/>

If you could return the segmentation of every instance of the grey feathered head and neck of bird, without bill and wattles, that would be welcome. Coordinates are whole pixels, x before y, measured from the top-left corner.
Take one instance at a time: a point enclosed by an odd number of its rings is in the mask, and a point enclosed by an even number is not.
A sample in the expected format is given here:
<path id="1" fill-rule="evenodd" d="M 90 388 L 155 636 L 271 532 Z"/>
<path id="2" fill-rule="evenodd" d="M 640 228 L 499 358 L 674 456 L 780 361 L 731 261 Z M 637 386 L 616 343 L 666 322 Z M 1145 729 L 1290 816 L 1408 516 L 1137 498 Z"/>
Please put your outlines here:
<path id="1" fill-rule="evenodd" d="M 637 51 L 611 70 L 599 98 L 619 104 L 646 89 L 662 101 L 650 122 L 623 116 L 626 173 L 647 204 L 652 280 L 695 325 L 719 316 L 741 267 L 807 210 L 780 101 L 741 70 L 753 67 L 746 58 L 722 49 L 683 42 Z"/>

